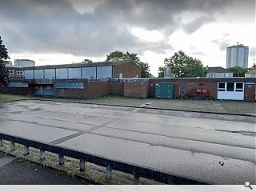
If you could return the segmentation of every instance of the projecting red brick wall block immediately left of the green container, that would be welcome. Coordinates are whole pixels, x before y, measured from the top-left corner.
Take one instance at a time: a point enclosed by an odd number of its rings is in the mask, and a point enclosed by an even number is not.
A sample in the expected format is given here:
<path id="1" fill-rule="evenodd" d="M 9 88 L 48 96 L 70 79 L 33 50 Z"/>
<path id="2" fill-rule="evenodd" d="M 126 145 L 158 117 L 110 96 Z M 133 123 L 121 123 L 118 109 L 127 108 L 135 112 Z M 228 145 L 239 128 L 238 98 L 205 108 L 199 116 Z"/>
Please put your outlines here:
<path id="1" fill-rule="evenodd" d="M 129 98 L 149 97 L 149 82 L 124 82 L 124 96 Z"/>

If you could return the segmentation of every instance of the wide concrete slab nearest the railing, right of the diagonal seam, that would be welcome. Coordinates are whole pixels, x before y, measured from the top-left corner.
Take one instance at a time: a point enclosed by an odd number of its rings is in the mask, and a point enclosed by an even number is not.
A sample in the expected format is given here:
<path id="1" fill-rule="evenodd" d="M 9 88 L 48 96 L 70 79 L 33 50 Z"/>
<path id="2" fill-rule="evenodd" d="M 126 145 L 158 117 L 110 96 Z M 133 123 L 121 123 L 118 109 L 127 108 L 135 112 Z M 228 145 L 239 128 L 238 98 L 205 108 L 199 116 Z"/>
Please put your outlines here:
<path id="1" fill-rule="evenodd" d="M 94 143 L 94 145 L 91 145 Z M 120 138 L 108 138 L 94 134 L 83 134 L 78 138 L 62 142 L 76 150 L 102 155 L 122 162 L 153 167 L 170 174 L 194 178 L 214 184 L 244 184 L 255 181 L 255 164 L 233 158 L 222 158 L 213 154 L 194 153 L 164 146 L 151 146 Z M 218 162 L 225 162 L 221 166 Z"/>

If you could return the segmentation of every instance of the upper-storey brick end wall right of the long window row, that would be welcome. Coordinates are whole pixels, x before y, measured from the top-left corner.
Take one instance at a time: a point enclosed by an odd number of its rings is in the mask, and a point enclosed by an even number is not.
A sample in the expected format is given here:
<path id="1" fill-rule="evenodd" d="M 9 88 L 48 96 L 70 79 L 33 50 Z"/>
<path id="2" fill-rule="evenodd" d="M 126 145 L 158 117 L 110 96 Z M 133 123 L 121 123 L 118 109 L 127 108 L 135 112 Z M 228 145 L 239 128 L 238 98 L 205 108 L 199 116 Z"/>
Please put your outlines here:
<path id="1" fill-rule="evenodd" d="M 141 78 L 141 69 L 133 62 L 114 65 L 114 78 L 119 78 L 119 73 L 122 73 L 122 78 Z"/>

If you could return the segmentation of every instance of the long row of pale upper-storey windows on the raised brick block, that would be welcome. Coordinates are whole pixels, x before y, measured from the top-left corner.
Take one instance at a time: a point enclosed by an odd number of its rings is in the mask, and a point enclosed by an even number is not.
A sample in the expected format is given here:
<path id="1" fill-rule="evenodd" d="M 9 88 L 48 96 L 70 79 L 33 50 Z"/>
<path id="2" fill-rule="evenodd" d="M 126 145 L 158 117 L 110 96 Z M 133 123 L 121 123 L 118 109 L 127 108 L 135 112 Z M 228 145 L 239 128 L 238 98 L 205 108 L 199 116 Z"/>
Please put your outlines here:
<path id="1" fill-rule="evenodd" d="M 112 66 L 74 67 L 44 70 L 25 70 L 26 79 L 42 78 L 112 78 Z"/>

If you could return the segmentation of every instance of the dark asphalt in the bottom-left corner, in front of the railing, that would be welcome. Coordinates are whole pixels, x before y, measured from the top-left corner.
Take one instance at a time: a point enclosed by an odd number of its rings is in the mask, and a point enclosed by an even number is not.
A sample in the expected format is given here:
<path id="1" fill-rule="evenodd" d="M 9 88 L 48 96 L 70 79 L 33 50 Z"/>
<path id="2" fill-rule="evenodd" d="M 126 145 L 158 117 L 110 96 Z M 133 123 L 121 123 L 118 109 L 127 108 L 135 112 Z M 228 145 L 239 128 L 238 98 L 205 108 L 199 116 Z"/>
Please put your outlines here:
<path id="1" fill-rule="evenodd" d="M 50 168 L 0 153 L 0 185 L 88 185 Z"/>

